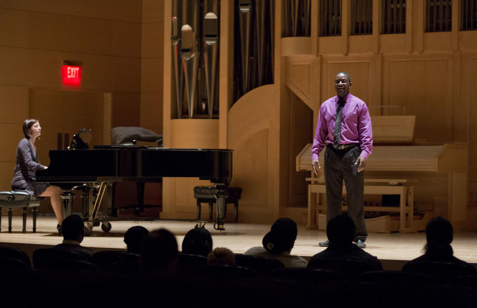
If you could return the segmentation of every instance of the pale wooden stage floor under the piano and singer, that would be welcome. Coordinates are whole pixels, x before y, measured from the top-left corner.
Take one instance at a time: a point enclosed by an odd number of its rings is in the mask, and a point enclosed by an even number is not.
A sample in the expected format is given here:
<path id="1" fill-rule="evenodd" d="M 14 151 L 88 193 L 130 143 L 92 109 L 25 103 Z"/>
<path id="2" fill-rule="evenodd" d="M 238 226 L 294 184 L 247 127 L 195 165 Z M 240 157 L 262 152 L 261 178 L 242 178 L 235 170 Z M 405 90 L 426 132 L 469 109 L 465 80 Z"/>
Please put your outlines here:
<path id="1" fill-rule="evenodd" d="M 14 246 L 27 251 L 28 254 L 43 245 L 56 245 L 61 243 L 62 237 L 56 231 L 56 219 L 53 216 L 39 216 L 37 218 L 37 232 L 32 232 L 32 217 L 27 219 L 27 232 L 21 233 L 21 216 L 14 216 L 12 220 L 12 233 L 8 233 L 8 219 L 6 216 L 1 220 L 0 245 Z M 187 231 L 194 228 L 194 221 L 120 221 L 111 222 L 111 231 L 105 233 L 100 227 L 94 227 L 93 234 L 85 237 L 82 245 L 93 249 L 125 249 L 123 241 L 124 232 L 132 226 L 143 226 L 148 230 L 165 228 L 172 231 L 181 247 L 182 239 Z M 227 247 L 235 253 L 243 253 L 250 247 L 261 246 L 263 235 L 270 231 L 269 225 L 226 223 L 226 231 L 216 231 L 212 223 L 206 227 L 212 233 L 214 247 Z M 298 227 L 298 237 L 292 254 L 300 255 L 309 259 L 314 254 L 325 249 L 319 247 L 318 242 L 326 240 L 324 231 L 306 230 Z M 417 233 L 370 233 L 366 240 L 366 251 L 377 256 L 385 269 L 400 270 L 407 261 L 414 259 L 423 253 L 425 244 L 424 232 Z M 477 233 L 456 232 L 452 242 L 454 255 L 459 259 L 477 265 Z"/>

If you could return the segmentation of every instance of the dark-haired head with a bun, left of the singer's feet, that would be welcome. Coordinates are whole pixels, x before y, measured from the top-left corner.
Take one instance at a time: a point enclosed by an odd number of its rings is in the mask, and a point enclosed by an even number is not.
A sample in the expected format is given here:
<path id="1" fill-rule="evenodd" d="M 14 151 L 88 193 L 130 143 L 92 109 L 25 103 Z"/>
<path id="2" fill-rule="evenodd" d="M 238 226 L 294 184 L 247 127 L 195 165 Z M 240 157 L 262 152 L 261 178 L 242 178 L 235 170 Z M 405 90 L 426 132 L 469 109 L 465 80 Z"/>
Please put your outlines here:
<path id="1" fill-rule="evenodd" d="M 263 236 L 262 245 L 273 254 L 290 252 L 295 245 L 297 234 L 297 223 L 290 218 L 279 218 L 273 223 L 270 232 Z"/>

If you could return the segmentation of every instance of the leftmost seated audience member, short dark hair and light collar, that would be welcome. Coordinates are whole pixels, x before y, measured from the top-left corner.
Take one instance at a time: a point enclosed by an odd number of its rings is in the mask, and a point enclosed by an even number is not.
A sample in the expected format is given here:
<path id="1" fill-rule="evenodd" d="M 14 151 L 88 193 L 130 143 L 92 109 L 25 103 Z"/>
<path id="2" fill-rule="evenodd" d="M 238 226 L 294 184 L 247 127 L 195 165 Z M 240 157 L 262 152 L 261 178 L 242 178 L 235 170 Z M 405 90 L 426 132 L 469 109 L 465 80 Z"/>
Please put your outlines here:
<path id="1" fill-rule="evenodd" d="M 84 238 L 84 223 L 78 215 L 73 214 L 63 220 L 61 233 L 63 234 L 63 243 L 53 248 L 77 251 L 88 258 L 94 253 L 91 248 L 80 245 Z"/>

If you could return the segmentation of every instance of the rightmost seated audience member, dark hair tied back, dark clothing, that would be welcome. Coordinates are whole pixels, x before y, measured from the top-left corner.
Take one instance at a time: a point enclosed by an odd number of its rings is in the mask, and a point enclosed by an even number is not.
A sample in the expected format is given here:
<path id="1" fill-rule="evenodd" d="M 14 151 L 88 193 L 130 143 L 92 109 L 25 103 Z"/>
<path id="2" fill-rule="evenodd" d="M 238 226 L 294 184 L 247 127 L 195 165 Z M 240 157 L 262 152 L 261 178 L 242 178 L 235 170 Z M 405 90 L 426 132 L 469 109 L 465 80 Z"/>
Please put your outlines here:
<path id="1" fill-rule="evenodd" d="M 443 217 L 436 217 L 431 219 L 426 225 L 426 240 L 424 246 L 425 253 L 420 257 L 407 262 L 451 262 L 465 265 L 469 268 L 470 273 L 475 273 L 476 268 L 462 260 L 453 256 L 451 243 L 453 240 L 452 224 Z"/>

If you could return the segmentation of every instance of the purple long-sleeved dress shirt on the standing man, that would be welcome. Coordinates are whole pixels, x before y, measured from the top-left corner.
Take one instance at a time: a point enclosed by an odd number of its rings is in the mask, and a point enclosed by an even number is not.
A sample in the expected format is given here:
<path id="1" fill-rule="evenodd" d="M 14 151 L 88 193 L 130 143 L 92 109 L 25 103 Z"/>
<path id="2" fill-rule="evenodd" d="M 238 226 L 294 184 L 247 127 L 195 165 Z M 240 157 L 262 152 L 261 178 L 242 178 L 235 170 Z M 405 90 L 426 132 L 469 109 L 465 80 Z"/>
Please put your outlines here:
<path id="1" fill-rule="evenodd" d="M 341 137 L 339 144 L 359 143 L 361 154 L 368 158 L 373 150 L 373 130 L 366 103 L 348 93 L 344 97 L 341 120 Z M 317 131 L 312 147 L 312 159 L 318 159 L 318 154 L 326 143 L 333 145 L 334 122 L 336 120 L 336 106 L 338 95 L 325 100 L 319 107 Z"/>

